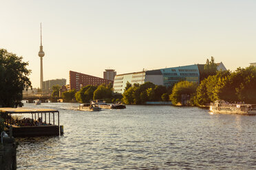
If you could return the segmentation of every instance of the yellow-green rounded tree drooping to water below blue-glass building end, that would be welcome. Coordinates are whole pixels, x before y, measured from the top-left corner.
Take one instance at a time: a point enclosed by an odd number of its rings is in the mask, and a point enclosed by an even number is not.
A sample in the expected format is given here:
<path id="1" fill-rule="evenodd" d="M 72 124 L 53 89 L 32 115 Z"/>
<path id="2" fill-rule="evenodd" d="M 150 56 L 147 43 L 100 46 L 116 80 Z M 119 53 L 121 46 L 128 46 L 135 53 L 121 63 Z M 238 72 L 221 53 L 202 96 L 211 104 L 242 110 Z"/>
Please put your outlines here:
<path id="1" fill-rule="evenodd" d="M 196 88 L 198 87 L 197 83 L 194 82 L 178 82 L 173 87 L 173 92 L 169 96 L 171 99 L 171 102 L 173 104 L 182 104 L 182 95 L 189 95 L 190 97 L 195 94 Z"/>

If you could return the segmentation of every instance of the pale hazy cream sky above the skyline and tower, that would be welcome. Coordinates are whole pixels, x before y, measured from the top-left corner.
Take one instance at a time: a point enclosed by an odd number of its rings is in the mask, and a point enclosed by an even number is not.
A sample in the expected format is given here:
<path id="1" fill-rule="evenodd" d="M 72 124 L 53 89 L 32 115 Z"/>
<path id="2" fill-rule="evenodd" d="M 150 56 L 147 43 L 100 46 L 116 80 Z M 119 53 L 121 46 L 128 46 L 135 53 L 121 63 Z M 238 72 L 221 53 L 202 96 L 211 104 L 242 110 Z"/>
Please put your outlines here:
<path id="1" fill-rule="evenodd" d="M 227 69 L 256 62 L 255 0 L 1 1 L 0 48 L 23 56 L 40 84 L 69 71 L 103 77 L 203 64 L 213 56 Z"/>

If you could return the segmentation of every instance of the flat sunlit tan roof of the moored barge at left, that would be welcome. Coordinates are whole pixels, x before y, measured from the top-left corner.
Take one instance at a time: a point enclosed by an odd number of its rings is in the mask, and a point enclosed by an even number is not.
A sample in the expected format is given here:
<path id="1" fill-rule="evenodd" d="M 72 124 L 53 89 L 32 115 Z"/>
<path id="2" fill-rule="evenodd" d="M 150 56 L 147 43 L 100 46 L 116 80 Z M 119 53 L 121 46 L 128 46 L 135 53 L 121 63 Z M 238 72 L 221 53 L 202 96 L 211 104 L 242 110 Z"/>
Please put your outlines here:
<path id="1" fill-rule="evenodd" d="M 38 112 L 58 112 L 58 110 L 47 108 L 0 108 L 0 112 L 6 113 L 38 113 Z"/>

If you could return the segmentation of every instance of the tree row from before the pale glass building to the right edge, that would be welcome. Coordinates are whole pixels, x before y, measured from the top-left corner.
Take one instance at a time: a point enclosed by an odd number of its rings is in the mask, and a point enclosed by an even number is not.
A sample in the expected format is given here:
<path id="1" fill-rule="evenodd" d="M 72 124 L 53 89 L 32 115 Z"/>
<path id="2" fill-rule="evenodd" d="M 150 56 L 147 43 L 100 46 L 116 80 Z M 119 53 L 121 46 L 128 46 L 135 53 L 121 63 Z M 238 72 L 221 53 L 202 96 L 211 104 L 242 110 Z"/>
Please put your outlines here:
<path id="1" fill-rule="evenodd" d="M 172 104 L 208 106 L 211 102 L 223 99 L 232 103 L 244 101 L 247 104 L 256 104 L 255 66 L 239 67 L 235 71 L 217 71 L 217 64 L 211 57 L 204 64 L 200 80 L 200 84 L 182 81 L 170 88 L 156 86 L 151 82 L 131 86 L 127 82 L 122 101 L 125 104 L 171 101 Z"/>

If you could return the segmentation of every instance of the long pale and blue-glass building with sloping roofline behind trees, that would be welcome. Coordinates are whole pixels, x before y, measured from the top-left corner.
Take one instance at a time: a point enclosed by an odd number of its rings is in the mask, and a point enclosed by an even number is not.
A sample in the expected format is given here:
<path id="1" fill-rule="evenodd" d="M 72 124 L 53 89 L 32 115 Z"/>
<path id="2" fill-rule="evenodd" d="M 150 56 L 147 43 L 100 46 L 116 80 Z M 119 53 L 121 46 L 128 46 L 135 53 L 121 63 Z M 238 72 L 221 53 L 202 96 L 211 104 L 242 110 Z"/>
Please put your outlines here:
<path id="1" fill-rule="evenodd" d="M 220 67 L 221 66 L 221 67 Z M 144 84 L 152 82 L 156 85 L 174 86 L 180 81 L 200 83 L 200 73 L 204 69 L 204 64 L 193 64 L 188 66 L 177 66 L 152 71 L 142 71 L 116 75 L 114 79 L 114 93 L 124 93 L 127 82 L 131 84 Z M 225 71 L 224 64 L 217 64 L 217 70 Z"/>

